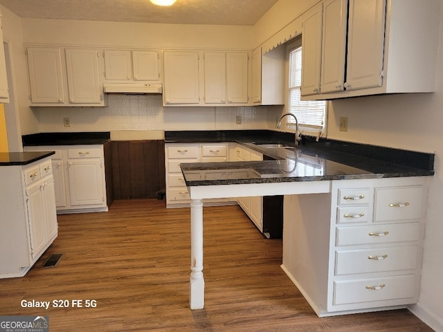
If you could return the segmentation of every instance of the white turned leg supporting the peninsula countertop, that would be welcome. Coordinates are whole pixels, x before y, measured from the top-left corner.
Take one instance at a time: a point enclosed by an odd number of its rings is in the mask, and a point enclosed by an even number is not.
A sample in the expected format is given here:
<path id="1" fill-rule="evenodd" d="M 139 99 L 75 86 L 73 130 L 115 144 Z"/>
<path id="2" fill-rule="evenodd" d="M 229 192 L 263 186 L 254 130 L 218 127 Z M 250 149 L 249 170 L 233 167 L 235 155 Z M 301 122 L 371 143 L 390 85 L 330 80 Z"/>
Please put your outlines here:
<path id="1" fill-rule="evenodd" d="M 189 304 L 192 310 L 204 308 L 203 279 L 203 203 L 191 200 L 191 276 Z"/>

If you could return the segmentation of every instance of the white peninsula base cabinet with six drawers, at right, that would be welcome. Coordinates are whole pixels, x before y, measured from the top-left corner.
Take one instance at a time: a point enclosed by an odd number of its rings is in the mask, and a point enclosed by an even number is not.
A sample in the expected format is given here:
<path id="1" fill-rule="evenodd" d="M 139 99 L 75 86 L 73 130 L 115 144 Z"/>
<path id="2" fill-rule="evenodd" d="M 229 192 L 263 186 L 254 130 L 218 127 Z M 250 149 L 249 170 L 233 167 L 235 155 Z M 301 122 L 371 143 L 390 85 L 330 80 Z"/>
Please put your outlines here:
<path id="1" fill-rule="evenodd" d="M 282 268 L 317 315 L 417 302 L 427 183 L 332 181 L 331 193 L 284 197 Z"/>

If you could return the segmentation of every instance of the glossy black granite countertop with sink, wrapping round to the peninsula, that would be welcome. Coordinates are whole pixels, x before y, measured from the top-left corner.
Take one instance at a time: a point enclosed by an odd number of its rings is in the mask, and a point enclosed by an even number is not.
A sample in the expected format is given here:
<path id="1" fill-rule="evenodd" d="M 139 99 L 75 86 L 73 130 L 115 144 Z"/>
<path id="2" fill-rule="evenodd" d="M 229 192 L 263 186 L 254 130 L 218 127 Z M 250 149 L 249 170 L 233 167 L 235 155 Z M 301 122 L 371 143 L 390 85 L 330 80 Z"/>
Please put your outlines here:
<path id="1" fill-rule="evenodd" d="M 280 136 L 275 131 L 235 131 L 233 136 L 229 136 L 229 131 L 210 135 L 192 131 L 187 137 L 186 133 L 172 136 L 165 133 L 165 141 L 238 142 L 271 159 L 183 163 L 181 169 L 188 186 L 432 176 L 435 173 L 435 155 L 416 151 L 325 139 L 316 142 L 305 137 L 302 144 L 295 147 L 293 134 Z M 263 143 L 280 143 L 286 148 L 260 146 Z"/>

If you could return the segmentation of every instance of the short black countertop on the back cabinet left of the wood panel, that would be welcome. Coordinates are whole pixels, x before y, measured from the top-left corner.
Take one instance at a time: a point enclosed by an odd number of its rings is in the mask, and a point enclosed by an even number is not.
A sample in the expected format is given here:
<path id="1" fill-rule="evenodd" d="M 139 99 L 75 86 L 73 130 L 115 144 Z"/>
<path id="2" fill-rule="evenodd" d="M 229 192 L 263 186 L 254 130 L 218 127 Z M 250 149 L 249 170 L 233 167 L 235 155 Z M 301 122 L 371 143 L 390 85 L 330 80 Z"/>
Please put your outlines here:
<path id="1" fill-rule="evenodd" d="M 21 136 L 24 146 L 102 145 L 111 138 L 109 131 L 73 133 L 32 133 Z"/>

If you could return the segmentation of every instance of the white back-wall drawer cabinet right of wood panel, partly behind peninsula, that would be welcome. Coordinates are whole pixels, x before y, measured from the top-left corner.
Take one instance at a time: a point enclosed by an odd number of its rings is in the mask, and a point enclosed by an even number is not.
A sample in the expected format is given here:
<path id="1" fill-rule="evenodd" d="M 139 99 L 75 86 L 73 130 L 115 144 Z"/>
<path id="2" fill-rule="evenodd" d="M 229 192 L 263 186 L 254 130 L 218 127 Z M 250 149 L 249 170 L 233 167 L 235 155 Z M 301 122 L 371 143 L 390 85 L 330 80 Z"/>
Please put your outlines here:
<path id="1" fill-rule="evenodd" d="M 217 163 L 228 161 L 228 143 L 167 143 L 165 144 L 166 207 L 190 205 L 181 163 Z M 210 176 L 210 175 L 208 175 Z M 228 203 L 228 199 L 205 199 L 206 205 Z"/>

